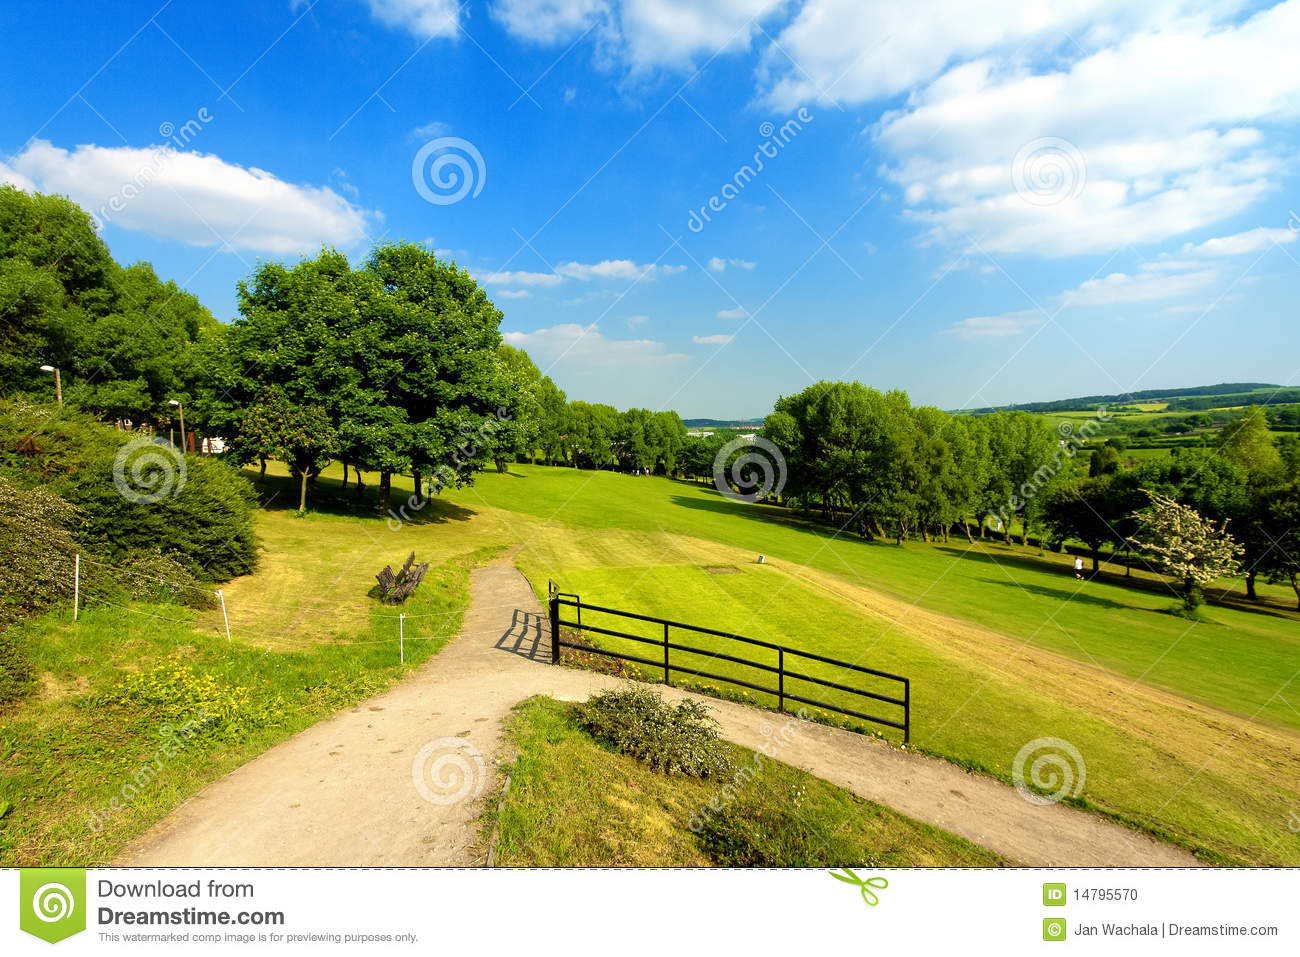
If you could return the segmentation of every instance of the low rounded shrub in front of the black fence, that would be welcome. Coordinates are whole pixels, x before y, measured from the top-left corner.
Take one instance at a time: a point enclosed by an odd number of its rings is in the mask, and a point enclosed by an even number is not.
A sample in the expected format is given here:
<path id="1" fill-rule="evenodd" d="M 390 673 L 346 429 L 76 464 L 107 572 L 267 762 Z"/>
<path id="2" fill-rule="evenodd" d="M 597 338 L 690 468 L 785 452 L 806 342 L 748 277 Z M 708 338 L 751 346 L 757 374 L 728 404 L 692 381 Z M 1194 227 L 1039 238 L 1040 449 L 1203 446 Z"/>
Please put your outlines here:
<path id="1" fill-rule="evenodd" d="M 649 688 L 627 688 L 592 696 L 578 719 L 595 739 L 656 771 L 692 778 L 732 772 L 718 723 L 699 702 L 670 705 Z"/>

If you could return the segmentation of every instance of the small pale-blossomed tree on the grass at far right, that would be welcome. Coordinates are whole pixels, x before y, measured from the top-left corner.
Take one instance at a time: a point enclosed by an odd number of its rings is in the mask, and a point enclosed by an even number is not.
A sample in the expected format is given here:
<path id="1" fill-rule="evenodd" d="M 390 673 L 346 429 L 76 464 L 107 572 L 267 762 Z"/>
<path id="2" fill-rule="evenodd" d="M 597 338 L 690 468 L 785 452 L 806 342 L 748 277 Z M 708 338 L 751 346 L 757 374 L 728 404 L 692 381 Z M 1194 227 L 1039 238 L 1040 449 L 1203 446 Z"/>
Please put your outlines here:
<path id="1" fill-rule="evenodd" d="M 1206 585 L 1238 573 L 1243 549 L 1228 534 L 1227 519 L 1216 523 L 1171 498 L 1149 495 L 1150 507 L 1135 516 L 1132 542 L 1179 583 L 1183 606 L 1191 611 L 1204 601 Z"/>

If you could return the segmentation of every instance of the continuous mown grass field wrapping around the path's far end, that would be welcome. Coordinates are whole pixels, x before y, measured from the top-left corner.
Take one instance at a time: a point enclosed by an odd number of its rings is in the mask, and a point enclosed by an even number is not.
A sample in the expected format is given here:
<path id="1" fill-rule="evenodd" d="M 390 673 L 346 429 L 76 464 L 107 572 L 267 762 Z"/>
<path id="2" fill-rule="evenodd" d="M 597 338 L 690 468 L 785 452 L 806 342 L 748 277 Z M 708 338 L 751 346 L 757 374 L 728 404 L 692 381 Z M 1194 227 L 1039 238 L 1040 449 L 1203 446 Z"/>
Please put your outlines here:
<path id="1" fill-rule="evenodd" d="M 272 465 L 263 564 L 224 589 L 233 645 L 220 610 L 92 609 L 77 625 L 55 614 L 23 627 L 43 690 L 0 718 L 0 861 L 112 859 L 203 784 L 400 674 L 391 610 L 369 597 L 382 564 L 412 550 L 434 564 L 408 609 L 413 662 L 455 632 L 468 570 L 524 545 L 516 560 L 538 592 L 550 577 L 590 602 L 907 675 L 923 750 L 1009 779 L 1026 742 L 1063 737 L 1087 762 L 1084 806 L 1209 861 L 1300 863 L 1287 827 L 1300 809 L 1288 590 L 1265 589 L 1262 610 L 1212 606 L 1192 624 L 1166 614 L 1175 599 L 1154 576 L 1126 583 L 1110 570 L 1080 584 L 1065 555 L 867 544 L 689 482 L 529 465 L 481 475 L 396 528 L 373 498 L 341 494 L 337 475 L 296 518 Z M 395 478 L 394 503 L 410 489 Z M 136 675 L 161 687 L 133 706 Z M 217 710 L 243 696 L 247 718 L 213 724 L 88 827 L 157 750 L 192 683 Z"/>

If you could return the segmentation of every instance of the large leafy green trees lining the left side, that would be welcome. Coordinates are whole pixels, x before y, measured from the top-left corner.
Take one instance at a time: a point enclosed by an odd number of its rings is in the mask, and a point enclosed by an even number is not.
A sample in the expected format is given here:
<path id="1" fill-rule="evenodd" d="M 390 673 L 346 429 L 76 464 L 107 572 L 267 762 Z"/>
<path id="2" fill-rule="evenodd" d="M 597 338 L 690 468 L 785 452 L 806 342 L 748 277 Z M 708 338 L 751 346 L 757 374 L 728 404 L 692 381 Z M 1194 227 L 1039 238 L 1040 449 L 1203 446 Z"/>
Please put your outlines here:
<path id="1" fill-rule="evenodd" d="M 0 394 L 53 391 L 98 417 L 166 428 L 172 403 L 235 462 L 283 460 L 311 480 L 343 463 L 356 494 L 394 473 L 434 489 L 537 460 L 676 473 L 675 412 L 569 400 L 523 350 L 469 273 L 415 243 L 354 268 L 322 250 L 264 263 L 217 322 L 147 263 L 118 265 L 61 196 L 0 189 Z"/>

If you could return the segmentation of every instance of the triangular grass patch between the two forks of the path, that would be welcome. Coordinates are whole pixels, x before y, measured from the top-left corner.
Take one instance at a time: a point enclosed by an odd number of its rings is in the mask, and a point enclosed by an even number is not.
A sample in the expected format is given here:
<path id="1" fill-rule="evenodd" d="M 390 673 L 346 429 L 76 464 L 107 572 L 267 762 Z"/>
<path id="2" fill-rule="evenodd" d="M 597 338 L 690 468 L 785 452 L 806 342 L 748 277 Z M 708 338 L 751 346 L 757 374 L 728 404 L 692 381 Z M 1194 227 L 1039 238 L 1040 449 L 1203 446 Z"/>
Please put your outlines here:
<path id="1" fill-rule="evenodd" d="M 500 824 L 498 862 L 521 867 L 707 866 L 688 826 L 723 783 L 668 778 L 586 735 L 571 705 L 547 698 L 523 702 L 511 719 L 517 755 L 504 806 L 485 815 L 485 837 Z M 734 748 L 737 767 L 754 753 Z M 746 801 L 789 810 L 814 846 L 835 835 L 853 859 L 819 866 L 997 866 L 997 854 L 950 833 L 863 801 L 819 778 L 776 761 L 744 787 Z M 796 798 L 796 794 L 801 794 Z"/>

